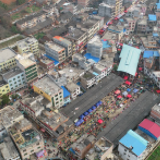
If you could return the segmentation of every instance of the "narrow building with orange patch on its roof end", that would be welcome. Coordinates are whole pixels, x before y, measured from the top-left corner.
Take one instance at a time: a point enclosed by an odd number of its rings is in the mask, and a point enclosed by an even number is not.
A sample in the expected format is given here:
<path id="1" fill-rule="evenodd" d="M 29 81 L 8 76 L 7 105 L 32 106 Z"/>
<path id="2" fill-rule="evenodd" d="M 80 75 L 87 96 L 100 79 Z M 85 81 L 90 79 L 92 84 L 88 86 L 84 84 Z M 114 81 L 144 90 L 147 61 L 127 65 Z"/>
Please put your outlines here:
<path id="1" fill-rule="evenodd" d="M 66 57 L 72 56 L 72 43 L 66 38 L 55 36 L 53 41 L 66 49 Z"/>

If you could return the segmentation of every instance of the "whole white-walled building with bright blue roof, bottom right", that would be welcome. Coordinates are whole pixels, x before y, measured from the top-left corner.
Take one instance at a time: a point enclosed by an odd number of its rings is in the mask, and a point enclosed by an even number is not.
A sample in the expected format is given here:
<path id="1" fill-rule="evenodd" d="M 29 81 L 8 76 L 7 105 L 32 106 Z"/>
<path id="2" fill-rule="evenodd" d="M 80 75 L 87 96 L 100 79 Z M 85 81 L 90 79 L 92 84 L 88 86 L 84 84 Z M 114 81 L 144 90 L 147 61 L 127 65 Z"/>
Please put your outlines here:
<path id="1" fill-rule="evenodd" d="M 147 148 L 148 141 L 132 130 L 119 141 L 118 152 L 123 160 L 139 160 Z"/>

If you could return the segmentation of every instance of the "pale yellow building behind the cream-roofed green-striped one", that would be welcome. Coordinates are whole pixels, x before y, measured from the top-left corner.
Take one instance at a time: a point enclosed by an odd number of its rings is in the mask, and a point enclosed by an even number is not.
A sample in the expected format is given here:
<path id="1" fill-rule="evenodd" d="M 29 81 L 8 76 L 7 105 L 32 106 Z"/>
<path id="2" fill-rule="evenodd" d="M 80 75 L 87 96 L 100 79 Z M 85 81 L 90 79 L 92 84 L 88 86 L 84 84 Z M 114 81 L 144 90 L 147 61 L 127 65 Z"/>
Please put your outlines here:
<path id="1" fill-rule="evenodd" d="M 18 52 L 22 55 L 23 53 L 32 52 L 34 55 L 38 56 L 38 40 L 33 37 L 27 37 L 23 40 L 17 42 Z"/>

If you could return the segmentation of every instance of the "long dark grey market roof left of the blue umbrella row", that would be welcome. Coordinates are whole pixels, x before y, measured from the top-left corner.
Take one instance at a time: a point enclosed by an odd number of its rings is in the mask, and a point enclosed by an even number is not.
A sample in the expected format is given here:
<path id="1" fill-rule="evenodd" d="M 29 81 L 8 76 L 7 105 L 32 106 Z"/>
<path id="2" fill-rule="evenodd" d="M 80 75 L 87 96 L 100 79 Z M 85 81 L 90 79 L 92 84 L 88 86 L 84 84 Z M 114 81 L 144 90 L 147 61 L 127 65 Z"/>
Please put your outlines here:
<path id="1" fill-rule="evenodd" d="M 123 82 L 124 80 L 121 77 L 110 74 L 104 78 L 101 83 L 88 90 L 84 95 L 78 97 L 60 112 L 66 117 L 69 117 L 71 121 L 75 121 L 81 114 L 90 109 Z"/>

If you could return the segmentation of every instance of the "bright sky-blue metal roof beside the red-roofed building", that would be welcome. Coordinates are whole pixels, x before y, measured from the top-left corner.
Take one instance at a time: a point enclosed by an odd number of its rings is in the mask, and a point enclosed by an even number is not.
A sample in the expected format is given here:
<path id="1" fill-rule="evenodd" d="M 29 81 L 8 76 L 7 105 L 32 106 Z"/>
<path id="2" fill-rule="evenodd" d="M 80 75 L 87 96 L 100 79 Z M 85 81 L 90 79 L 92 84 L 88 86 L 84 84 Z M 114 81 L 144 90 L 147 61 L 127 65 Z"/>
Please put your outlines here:
<path id="1" fill-rule="evenodd" d="M 140 156 L 142 152 L 147 148 L 148 141 L 137 133 L 129 130 L 127 134 L 122 137 L 119 141 L 121 144 L 127 148 L 133 147 L 132 152 L 137 156 Z"/>

